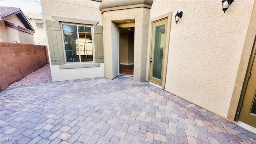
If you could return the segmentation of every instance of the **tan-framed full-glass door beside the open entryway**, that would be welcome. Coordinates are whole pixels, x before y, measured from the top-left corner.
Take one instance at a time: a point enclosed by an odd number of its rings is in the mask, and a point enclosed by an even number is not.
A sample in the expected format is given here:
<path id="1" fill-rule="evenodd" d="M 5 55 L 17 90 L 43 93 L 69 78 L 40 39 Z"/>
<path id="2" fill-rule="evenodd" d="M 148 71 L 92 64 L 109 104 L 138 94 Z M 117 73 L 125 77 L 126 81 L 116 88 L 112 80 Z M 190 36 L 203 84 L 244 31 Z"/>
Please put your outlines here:
<path id="1" fill-rule="evenodd" d="M 164 52 L 168 19 L 159 20 L 152 26 L 152 44 L 150 57 L 150 82 L 162 86 Z"/>

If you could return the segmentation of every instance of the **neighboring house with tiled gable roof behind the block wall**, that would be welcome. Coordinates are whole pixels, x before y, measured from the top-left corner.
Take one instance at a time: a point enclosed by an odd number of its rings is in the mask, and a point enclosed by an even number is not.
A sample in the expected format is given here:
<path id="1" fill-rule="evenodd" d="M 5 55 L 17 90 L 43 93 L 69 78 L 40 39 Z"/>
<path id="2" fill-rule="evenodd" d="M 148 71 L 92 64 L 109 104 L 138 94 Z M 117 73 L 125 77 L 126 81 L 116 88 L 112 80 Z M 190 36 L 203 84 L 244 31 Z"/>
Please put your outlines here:
<path id="1" fill-rule="evenodd" d="M 0 6 L 0 41 L 34 44 L 34 28 L 20 8 Z"/>

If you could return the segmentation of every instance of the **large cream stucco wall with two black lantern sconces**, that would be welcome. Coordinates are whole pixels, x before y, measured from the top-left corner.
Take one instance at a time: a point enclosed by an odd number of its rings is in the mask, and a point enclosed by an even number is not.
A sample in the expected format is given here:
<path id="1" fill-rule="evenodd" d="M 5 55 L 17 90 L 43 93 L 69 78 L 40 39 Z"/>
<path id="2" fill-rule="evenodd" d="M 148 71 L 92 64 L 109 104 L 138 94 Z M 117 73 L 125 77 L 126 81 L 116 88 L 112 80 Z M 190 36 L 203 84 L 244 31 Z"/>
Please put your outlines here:
<path id="1" fill-rule="evenodd" d="M 173 12 L 167 91 L 227 117 L 253 2 L 234 1 L 224 13 L 220 0 L 154 1 L 150 18 Z"/>

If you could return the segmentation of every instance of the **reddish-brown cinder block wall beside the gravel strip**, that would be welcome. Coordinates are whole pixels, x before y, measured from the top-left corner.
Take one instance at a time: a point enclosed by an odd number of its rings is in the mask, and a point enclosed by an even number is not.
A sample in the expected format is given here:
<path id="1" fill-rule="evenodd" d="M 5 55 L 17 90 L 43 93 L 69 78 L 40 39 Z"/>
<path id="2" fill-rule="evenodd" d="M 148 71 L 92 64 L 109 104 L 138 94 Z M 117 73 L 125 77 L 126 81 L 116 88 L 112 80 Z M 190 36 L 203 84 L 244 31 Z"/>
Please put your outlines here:
<path id="1" fill-rule="evenodd" d="M 49 63 L 47 46 L 0 42 L 1 91 Z"/>

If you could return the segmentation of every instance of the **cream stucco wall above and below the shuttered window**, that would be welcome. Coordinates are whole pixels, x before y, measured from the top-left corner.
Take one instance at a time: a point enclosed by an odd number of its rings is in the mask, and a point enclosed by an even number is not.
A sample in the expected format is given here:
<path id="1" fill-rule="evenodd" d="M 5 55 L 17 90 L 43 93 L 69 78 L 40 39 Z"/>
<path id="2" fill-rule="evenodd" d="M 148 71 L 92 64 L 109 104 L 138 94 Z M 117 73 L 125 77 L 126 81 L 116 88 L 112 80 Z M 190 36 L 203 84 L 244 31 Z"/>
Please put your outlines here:
<path id="1" fill-rule="evenodd" d="M 101 2 L 96 2 L 92 0 L 84 0 L 84 1 L 41 0 L 44 23 L 45 23 L 45 20 L 54 20 L 51 16 L 61 16 L 61 17 L 68 17 L 68 18 L 95 20 L 95 21 L 99 21 L 97 25 L 102 25 L 102 16 L 100 14 L 100 10 L 98 9 L 100 4 Z M 46 28 L 45 24 L 44 24 L 44 27 Z M 92 27 L 92 32 L 93 31 L 94 29 Z M 94 36 L 94 34 L 92 34 L 92 36 Z M 48 39 L 47 36 L 46 36 L 46 39 Z M 64 43 L 63 37 L 62 37 L 62 43 Z M 62 45 L 63 45 L 63 52 L 64 52 L 65 50 L 64 44 Z M 48 54 L 50 56 L 49 46 L 48 46 Z M 50 68 L 52 73 L 52 81 L 104 77 L 103 63 L 100 63 L 99 67 L 60 69 L 58 65 L 53 66 L 50 61 Z"/>

